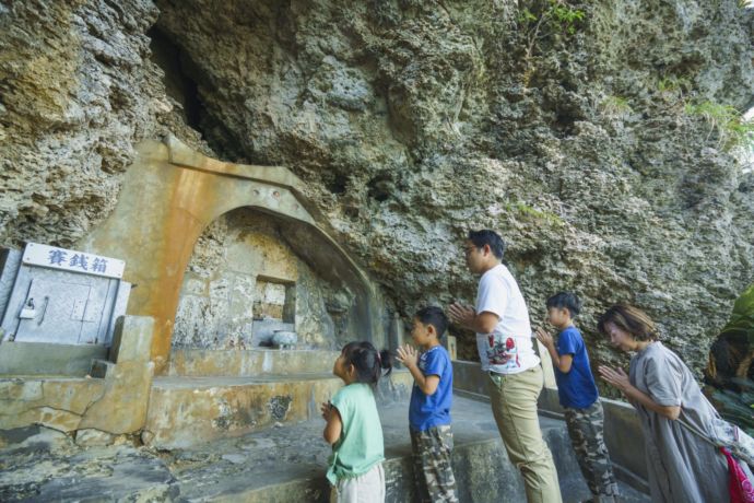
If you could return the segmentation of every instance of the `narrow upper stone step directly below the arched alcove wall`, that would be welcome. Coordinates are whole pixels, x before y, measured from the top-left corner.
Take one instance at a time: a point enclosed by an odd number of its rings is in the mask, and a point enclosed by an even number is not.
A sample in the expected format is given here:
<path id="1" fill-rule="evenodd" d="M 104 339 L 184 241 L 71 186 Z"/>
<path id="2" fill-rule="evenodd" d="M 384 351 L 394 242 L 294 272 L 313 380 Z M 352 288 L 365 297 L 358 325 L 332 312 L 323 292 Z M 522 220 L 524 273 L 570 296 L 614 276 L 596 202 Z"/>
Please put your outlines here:
<path id="1" fill-rule="evenodd" d="M 325 350 L 204 350 L 175 349 L 169 376 L 257 376 L 332 372 L 340 351 Z"/>

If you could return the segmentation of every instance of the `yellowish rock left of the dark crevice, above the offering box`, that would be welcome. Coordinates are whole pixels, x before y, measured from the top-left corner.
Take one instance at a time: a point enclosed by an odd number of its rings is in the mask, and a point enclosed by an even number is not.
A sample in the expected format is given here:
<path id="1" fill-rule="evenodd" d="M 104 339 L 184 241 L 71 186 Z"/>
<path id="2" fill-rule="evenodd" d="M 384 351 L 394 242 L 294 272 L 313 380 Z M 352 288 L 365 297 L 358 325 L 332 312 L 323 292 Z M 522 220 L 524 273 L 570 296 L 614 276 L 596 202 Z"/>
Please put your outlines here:
<path id="1" fill-rule="evenodd" d="M 74 243 L 115 206 L 142 138 L 177 128 L 200 147 L 150 60 L 157 14 L 149 0 L 0 4 L 4 244 Z"/>

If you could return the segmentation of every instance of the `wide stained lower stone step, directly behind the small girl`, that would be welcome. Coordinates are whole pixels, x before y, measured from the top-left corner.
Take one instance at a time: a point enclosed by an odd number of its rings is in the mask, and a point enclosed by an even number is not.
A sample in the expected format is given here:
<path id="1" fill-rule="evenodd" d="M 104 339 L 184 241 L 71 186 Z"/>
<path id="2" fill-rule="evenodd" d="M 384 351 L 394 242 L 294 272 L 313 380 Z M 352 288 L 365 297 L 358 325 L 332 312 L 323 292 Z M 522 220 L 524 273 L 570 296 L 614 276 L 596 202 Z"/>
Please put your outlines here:
<path id="1" fill-rule="evenodd" d="M 380 381 L 381 403 L 408 400 L 413 379 L 394 371 Z M 155 377 L 142 438 L 157 448 L 187 447 L 319 417 L 343 382 L 331 373 L 254 377 Z"/>

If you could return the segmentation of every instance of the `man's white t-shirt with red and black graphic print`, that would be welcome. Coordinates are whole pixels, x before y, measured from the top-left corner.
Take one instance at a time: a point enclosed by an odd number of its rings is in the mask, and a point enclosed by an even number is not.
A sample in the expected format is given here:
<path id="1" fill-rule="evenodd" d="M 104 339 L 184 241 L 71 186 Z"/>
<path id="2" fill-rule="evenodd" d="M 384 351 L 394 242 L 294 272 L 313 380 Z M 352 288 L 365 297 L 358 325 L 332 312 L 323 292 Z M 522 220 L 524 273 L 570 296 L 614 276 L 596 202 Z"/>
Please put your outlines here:
<path id="1" fill-rule="evenodd" d="M 504 265 L 482 274 L 476 292 L 476 313 L 499 317 L 492 334 L 476 334 L 483 371 L 517 374 L 539 365 L 531 339 L 529 311 L 518 283 Z"/>

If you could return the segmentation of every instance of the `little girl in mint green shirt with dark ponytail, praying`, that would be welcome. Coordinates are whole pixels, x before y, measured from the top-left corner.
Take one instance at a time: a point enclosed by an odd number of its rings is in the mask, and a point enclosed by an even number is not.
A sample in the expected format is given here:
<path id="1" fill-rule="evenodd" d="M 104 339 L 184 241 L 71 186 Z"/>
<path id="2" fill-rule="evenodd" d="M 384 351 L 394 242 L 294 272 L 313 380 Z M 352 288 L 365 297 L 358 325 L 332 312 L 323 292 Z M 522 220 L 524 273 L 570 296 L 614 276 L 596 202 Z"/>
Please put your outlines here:
<path id="1" fill-rule="evenodd" d="M 332 367 L 345 387 L 321 408 L 323 436 L 332 445 L 327 472 L 331 501 L 385 502 L 385 446 L 374 395 L 382 369 L 390 373 L 390 353 L 378 352 L 370 342 L 349 342 Z"/>

